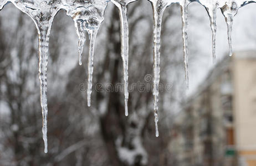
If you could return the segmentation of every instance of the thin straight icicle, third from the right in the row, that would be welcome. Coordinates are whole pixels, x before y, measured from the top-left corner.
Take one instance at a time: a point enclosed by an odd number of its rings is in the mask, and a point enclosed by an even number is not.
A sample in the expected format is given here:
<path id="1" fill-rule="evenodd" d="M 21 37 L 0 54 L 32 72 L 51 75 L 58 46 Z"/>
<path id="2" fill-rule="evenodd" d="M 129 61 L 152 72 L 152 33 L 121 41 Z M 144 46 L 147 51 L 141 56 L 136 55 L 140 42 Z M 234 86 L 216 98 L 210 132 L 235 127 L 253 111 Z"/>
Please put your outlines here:
<path id="1" fill-rule="evenodd" d="M 187 0 L 181 5 L 181 16 L 182 16 L 182 38 L 183 38 L 183 56 L 184 56 L 184 65 L 185 65 L 185 81 L 188 88 L 188 53 L 187 53 Z"/>

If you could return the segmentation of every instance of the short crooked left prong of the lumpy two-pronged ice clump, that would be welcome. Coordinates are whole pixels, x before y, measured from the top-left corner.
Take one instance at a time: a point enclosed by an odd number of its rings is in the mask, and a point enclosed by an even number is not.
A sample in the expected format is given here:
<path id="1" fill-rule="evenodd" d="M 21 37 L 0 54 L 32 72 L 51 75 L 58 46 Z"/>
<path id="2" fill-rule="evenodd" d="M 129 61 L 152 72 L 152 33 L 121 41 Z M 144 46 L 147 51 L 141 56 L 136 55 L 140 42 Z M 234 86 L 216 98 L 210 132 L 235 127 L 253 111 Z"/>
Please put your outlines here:
<path id="1" fill-rule="evenodd" d="M 79 37 L 79 40 L 78 40 L 79 65 L 82 65 L 82 53 L 83 53 L 84 43 L 85 43 L 83 22 L 81 22 L 80 20 L 76 20 L 75 29 Z"/>

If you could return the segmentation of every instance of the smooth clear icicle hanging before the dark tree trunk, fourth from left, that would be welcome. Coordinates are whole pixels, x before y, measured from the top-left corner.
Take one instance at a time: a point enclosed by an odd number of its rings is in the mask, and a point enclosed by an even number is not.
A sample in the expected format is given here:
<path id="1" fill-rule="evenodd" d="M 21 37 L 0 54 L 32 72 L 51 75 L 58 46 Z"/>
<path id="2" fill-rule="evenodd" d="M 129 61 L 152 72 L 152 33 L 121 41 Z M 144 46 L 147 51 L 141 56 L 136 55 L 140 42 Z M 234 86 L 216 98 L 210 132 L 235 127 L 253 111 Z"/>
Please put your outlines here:
<path id="1" fill-rule="evenodd" d="M 125 116 L 128 116 L 128 65 L 129 65 L 129 25 L 127 18 L 127 5 L 117 6 L 120 15 L 120 33 L 121 33 L 121 56 L 124 69 L 124 95 L 125 95 Z"/>

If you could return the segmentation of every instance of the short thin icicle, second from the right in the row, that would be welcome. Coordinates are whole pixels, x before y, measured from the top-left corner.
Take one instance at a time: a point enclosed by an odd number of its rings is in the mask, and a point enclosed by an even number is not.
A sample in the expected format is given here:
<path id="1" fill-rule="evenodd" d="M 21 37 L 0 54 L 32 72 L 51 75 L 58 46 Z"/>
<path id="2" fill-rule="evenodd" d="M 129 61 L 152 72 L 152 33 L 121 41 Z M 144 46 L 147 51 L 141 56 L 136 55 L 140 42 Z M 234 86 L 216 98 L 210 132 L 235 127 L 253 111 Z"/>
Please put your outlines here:
<path id="1" fill-rule="evenodd" d="M 217 32 L 217 25 L 216 25 L 216 11 L 217 7 L 212 9 L 206 8 L 209 18 L 210 18 L 210 26 L 212 30 L 212 61 L 213 63 L 216 61 L 216 32 Z"/>

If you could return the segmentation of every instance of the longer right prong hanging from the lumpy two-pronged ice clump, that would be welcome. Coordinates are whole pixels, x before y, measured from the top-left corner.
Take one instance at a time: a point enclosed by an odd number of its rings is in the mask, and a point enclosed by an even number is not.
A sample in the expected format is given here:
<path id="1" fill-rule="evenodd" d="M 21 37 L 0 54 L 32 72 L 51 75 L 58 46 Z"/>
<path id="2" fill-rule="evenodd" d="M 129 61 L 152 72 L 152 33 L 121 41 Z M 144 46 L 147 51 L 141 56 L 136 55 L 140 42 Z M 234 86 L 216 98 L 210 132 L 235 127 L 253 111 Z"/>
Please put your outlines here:
<path id="1" fill-rule="evenodd" d="M 91 106 L 91 87 L 93 86 L 93 59 L 94 59 L 94 46 L 95 39 L 98 33 L 98 28 L 88 29 L 89 34 L 89 58 L 88 58 L 88 88 L 87 88 L 87 105 Z"/>

